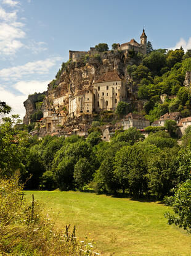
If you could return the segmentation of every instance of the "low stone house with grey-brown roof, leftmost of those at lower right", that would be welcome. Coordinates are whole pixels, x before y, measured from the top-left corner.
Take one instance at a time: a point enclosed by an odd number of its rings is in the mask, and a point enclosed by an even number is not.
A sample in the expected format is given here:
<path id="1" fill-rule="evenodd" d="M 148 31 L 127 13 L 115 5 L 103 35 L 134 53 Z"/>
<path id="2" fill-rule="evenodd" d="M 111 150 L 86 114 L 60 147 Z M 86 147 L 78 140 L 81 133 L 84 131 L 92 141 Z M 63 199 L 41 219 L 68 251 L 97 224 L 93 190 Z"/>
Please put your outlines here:
<path id="1" fill-rule="evenodd" d="M 122 121 L 122 124 L 124 130 L 128 130 L 130 127 L 144 129 L 147 126 L 150 126 L 150 122 L 144 116 L 134 113 L 127 114 Z"/>

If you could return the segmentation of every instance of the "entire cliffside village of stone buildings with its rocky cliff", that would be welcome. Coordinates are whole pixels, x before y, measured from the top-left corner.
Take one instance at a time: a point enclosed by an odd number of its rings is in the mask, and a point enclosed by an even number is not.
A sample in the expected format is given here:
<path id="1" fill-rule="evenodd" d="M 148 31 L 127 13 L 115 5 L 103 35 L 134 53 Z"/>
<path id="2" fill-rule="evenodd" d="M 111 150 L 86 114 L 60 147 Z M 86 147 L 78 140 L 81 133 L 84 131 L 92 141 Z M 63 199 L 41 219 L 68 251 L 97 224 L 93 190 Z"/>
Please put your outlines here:
<path id="1" fill-rule="evenodd" d="M 100 118 L 102 139 L 109 141 L 116 130 L 136 127 L 145 136 L 145 127 L 164 127 L 166 120 L 177 122 L 179 137 L 191 124 L 191 117 L 182 118 L 181 112 L 163 114 L 160 119 L 150 122 L 141 114 L 147 100 L 137 98 L 137 87 L 127 72 L 128 65 L 136 64 L 129 57 L 132 53 L 139 56 L 147 54 L 147 35 L 143 30 L 140 43 L 132 39 L 128 43 L 115 44 L 115 49 L 100 53 L 96 48 L 89 51 L 69 51 L 68 66 L 62 70 L 59 79 L 49 84 L 46 96 L 41 104 L 43 117 L 36 120 L 31 132 L 44 137 L 47 134 L 68 137 L 73 134 L 88 135 L 93 121 Z M 190 85 L 190 72 L 185 75 L 184 87 Z M 173 98 L 167 94 L 160 95 L 160 102 Z M 176 98 L 176 96 L 174 96 Z M 133 106 L 136 111 L 127 111 L 117 116 L 116 108 L 121 101 Z M 24 103 L 26 108 L 25 124 L 30 124 L 34 103 L 30 97 Z"/>

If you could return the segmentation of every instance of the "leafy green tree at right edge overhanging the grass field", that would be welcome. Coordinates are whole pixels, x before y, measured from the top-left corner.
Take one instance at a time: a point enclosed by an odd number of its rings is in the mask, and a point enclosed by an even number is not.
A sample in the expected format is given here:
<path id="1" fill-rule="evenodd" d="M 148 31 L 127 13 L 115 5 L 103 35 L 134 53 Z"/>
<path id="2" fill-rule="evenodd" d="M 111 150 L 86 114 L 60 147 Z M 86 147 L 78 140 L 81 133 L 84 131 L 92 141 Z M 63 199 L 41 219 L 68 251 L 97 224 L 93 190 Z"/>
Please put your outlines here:
<path id="1" fill-rule="evenodd" d="M 174 196 L 166 198 L 166 204 L 173 207 L 175 215 L 167 212 L 168 224 L 175 224 L 191 233 L 191 181 L 181 184 Z"/>

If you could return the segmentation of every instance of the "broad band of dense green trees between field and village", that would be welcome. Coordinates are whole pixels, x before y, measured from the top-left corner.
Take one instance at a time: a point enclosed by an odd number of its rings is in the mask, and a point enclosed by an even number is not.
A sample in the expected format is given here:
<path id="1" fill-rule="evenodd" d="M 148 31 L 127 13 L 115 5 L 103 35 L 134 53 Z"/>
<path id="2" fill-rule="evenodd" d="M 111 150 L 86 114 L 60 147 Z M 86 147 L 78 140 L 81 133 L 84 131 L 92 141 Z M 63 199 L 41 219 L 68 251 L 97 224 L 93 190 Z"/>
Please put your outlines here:
<path id="1" fill-rule="evenodd" d="M 161 199 L 190 177 L 190 127 L 182 146 L 163 130 L 150 132 L 144 139 L 139 130 L 130 128 L 116 132 L 111 142 L 103 142 L 94 129 L 87 139 L 48 135 L 38 140 L 6 122 L 1 125 L 1 140 L 3 129 L 4 136 L 12 132 L 0 153 L 1 175 L 11 176 L 20 169 L 25 189 L 91 187 L 97 193 Z"/>

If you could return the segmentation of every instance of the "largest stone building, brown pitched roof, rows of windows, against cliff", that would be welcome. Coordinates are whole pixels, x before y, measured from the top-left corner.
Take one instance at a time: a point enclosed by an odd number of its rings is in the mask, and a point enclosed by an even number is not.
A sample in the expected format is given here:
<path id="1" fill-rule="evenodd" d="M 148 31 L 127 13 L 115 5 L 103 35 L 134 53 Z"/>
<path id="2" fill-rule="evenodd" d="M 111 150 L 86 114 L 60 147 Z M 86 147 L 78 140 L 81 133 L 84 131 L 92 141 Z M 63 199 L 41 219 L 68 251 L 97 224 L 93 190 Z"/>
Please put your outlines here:
<path id="1" fill-rule="evenodd" d="M 94 110 L 113 111 L 119 101 L 127 98 L 126 83 L 113 71 L 108 72 L 94 83 Z"/>

